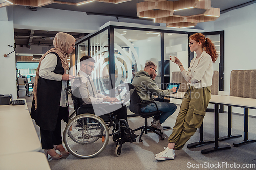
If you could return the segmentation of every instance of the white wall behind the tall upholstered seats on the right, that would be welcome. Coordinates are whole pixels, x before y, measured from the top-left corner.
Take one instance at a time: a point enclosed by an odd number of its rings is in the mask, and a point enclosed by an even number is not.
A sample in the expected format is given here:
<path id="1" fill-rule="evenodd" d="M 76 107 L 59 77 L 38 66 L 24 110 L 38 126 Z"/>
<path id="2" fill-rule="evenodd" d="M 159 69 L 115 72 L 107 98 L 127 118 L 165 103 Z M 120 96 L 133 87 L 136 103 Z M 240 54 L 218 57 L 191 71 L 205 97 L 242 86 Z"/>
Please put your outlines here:
<path id="1" fill-rule="evenodd" d="M 224 91 L 230 91 L 232 70 L 256 69 L 255 9 L 256 3 L 221 14 L 214 22 L 197 25 L 206 32 L 224 30 Z M 243 113 L 244 109 L 232 111 Z M 256 111 L 250 109 L 249 114 L 256 115 Z"/>

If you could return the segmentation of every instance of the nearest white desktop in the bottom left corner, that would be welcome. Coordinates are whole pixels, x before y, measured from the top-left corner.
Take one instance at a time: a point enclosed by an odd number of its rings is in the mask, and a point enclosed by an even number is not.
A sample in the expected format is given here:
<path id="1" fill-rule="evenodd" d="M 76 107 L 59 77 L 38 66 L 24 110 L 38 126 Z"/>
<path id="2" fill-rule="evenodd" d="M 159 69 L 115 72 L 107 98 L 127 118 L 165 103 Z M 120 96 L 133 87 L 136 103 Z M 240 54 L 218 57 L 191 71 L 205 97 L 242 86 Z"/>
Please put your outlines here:
<path id="1" fill-rule="evenodd" d="M 5 170 L 50 170 L 45 154 L 25 152 L 0 156 L 0 169 Z"/>

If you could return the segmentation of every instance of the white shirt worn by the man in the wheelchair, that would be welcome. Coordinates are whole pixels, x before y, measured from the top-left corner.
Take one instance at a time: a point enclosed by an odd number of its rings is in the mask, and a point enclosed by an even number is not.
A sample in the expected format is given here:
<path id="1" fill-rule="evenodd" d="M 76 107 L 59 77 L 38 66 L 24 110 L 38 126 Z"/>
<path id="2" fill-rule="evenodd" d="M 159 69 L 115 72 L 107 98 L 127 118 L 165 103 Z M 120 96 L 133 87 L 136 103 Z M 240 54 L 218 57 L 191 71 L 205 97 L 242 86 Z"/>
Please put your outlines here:
<path id="1" fill-rule="evenodd" d="M 102 103 L 103 98 L 106 98 L 107 96 L 102 95 L 96 91 L 92 77 L 87 75 L 85 72 L 81 70 L 79 71 L 79 76 L 82 78 L 74 80 L 72 84 L 72 90 L 74 90 L 75 88 L 79 88 L 81 98 L 86 104 Z M 91 83 L 89 82 L 88 79 L 90 80 Z"/>

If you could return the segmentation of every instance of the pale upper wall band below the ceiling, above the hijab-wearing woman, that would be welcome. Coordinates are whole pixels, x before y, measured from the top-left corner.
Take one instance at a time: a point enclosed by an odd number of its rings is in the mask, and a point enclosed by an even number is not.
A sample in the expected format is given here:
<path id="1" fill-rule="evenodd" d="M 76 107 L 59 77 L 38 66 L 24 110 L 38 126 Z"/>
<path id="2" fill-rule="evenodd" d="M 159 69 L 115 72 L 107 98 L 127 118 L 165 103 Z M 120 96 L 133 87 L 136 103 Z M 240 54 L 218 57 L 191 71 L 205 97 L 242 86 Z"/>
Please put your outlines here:
<path id="1" fill-rule="evenodd" d="M 37 11 L 31 11 L 25 6 L 14 6 L 14 28 L 20 29 L 94 33 L 108 21 L 117 20 L 116 17 L 87 15 L 85 12 L 42 7 L 37 8 Z M 120 18 L 119 21 L 159 25 L 152 21 L 129 18 Z"/>

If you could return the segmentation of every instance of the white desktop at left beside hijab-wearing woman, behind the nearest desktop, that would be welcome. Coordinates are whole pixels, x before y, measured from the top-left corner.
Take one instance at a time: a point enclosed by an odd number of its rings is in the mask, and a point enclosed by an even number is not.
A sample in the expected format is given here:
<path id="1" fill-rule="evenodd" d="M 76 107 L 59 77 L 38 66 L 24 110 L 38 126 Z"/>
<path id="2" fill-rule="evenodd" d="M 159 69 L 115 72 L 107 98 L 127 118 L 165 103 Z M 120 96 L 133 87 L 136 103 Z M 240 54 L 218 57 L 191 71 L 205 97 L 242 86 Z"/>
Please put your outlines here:
<path id="1" fill-rule="evenodd" d="M 0 156 L 41 149 L 41 143 L 28 110 L 0 112 L 0 134 Z M 30 158 L 30 156 L 27 157 L 27 159 Z"/>

